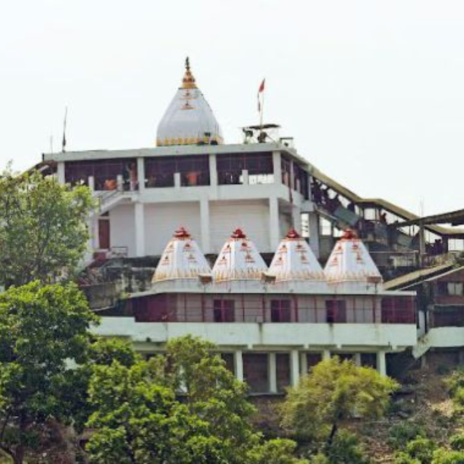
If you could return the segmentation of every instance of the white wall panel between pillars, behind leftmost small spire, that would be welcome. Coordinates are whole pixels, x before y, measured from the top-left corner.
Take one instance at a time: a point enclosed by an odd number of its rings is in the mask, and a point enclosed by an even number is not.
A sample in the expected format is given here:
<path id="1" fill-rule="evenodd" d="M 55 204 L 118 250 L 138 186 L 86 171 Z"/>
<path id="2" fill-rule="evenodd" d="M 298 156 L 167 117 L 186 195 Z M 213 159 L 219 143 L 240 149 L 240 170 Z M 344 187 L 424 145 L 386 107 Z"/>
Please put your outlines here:
<path id="1" fill-rule="evenodd" d="M 185 227 L 200 245 L 200 202 L 145 204 L 145 250 L 148 255 L 160 255 L 174 231 Z"/>

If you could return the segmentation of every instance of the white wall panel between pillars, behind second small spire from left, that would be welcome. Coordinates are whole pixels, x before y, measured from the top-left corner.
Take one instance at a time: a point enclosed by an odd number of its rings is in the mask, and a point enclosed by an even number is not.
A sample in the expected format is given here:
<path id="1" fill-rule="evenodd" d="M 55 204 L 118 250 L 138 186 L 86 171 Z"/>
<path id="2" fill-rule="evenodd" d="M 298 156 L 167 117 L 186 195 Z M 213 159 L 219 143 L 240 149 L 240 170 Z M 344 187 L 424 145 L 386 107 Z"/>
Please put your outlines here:
<path id="1" fill-rule="evenodd" d="M 257 246 L 259 252 L 275 252 L 269 243 L 269 202 L 214 201 L 210 202 L 210 241 L 213 253 L 219 253 L 222 245 L 236 228 L 241 228 Z"/>

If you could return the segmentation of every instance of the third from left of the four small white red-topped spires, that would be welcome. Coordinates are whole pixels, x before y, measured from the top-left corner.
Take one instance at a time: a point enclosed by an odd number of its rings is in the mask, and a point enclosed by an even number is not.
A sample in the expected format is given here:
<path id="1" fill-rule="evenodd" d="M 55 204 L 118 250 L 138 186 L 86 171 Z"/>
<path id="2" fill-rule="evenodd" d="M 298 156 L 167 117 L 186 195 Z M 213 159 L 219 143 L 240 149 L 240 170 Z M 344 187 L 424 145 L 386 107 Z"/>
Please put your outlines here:
<path id="1" fill-rule="evenodd" d="M 276 277 L 274 288 L 286 291 L 327 290 L 321 264 L 294 228 L 278 245 L 268 275 Z"/>

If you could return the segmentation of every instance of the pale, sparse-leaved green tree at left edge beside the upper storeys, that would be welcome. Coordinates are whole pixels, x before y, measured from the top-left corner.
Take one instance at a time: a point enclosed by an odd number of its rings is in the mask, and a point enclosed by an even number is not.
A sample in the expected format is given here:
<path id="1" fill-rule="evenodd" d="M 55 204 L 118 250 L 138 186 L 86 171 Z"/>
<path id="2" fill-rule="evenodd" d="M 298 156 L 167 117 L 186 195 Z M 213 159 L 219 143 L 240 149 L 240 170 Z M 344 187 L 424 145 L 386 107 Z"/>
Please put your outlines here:
<path id="1" fill-rule="evenodd" d="M 52 283 L 74 271 L 86 250 L 88 188 L 62 186 L 39 172 L 0 177 L 0 285 Z"/>

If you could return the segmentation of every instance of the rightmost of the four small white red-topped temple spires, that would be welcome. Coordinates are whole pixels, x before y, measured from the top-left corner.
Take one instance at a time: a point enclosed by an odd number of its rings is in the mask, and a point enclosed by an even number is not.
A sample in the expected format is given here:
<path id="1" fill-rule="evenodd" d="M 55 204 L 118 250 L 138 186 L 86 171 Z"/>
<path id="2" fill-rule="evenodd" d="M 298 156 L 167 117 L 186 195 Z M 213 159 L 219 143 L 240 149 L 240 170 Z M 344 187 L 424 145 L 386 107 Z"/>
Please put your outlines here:
<path id="1" fill-rule="evenodd" d="M 382 276 L 366 246 L 351 229 L 335 244 L 324 269 L 329 285 L 337 292 L 375 292 L 382 288 Z"/>

